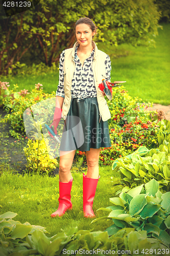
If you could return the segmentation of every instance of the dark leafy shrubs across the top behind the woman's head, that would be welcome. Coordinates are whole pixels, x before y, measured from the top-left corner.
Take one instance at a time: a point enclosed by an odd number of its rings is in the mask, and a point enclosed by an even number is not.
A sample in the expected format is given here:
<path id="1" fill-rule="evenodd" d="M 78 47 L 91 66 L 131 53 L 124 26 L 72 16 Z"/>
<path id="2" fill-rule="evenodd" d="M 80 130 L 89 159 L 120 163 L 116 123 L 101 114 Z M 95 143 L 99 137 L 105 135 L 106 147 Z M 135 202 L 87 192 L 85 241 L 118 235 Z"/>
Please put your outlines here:
<path id="1" fill-rule="evenodd" d="M 0 74 L 29 49 L 51 66 L 60 53 L 75 42 L 74 24 L 80 17 L 98 26 L 96 41 L 105 44 L 128 42 L 151 46 L 157 35 L 160 12 L 154 0 L 41 0 L 28 11 L 0 19 Z M 2 11 L 0 10 L 0 15 Z"/>

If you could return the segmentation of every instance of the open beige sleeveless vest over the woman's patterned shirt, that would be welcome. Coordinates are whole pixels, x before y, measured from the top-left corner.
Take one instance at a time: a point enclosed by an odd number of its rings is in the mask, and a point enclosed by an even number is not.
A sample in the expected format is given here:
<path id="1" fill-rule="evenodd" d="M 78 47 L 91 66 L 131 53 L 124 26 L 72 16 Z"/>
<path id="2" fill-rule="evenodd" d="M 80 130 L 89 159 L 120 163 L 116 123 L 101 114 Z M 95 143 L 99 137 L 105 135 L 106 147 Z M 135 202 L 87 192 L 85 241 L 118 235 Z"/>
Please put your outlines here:
<path id="1" fill-rule="evenodd" d="M 99 83 L 102 82 L 102 79 L 106 79 L 105 60 L 107 55 L 106 53 L 98 50 L 98 47 L 95 45 L 93 41 L 92 41 L 92 44 L 95 47 L 93 63 L 92 63 L 92 71 L 94 75 L 94 83 L 95 83 L 95 88 L 97 92 L 99 112 L 100 112 L 100 116 L 102 117 L 102 120 L 107 121 L 109 118 L 111 118 L 110 111 L 107 105 L 107 101 L 105 100 L 105 97 L 103 96 L 101 90 L 98 87 Z M 65 50 L 64 65 L 63 65 L 65 98 L 62 106 L 62 117 L 64 118 L 64 120 L 66 119 L 69 108 L 70 108 L 71 83 L 72 83 L 72 77 L 74 76 L 74 72 L 76 68 L 76 63 L 74 59 L 75 59 L 75 49 L 77 46 L 78 46 L 78 42 L 75 43 L 73 48 Z"/>

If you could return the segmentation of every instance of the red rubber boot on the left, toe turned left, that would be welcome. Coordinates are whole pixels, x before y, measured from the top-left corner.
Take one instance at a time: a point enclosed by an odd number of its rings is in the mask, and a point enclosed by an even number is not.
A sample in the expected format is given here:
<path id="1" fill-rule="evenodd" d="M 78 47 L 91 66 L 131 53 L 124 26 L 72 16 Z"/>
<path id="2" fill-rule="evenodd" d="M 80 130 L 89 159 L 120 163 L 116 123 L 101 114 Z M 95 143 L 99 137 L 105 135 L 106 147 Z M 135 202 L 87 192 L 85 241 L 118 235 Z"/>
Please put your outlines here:
<path id="1" fill-rule="evenodd" d="M 72 209 L 71 195 L 70 195 L 71 187 L 72 187 L 72 179 L 70 179 L 70 181 L 68 183 L 59 181 L 59 194 L 60 194 L 60 197 L 58 199 L 59 207 L 51 215 L 52 218 L 54 218 L 56 216 L 60 217 L 65 214 L 65 211 L 67 209 Z"/>

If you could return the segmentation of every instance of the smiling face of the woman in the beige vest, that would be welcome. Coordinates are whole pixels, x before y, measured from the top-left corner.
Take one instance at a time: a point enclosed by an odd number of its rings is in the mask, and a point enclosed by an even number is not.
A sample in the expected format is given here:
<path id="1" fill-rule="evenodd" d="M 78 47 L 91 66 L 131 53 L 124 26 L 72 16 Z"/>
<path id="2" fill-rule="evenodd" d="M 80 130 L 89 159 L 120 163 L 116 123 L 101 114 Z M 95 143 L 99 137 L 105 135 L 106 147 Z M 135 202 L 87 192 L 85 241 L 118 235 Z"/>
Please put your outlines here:
<path id="1" fill-rule="evenodd" d="M 76 38 L 80 46 L 90 46 L 94 34 L 95 31 L 92 31 L 87 24 L 83 23 L 76 26 Z"/>

